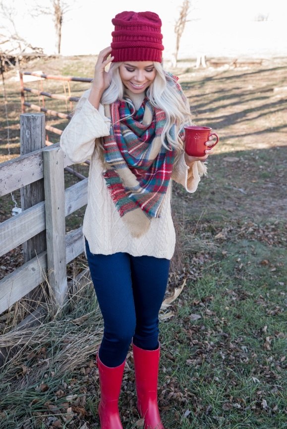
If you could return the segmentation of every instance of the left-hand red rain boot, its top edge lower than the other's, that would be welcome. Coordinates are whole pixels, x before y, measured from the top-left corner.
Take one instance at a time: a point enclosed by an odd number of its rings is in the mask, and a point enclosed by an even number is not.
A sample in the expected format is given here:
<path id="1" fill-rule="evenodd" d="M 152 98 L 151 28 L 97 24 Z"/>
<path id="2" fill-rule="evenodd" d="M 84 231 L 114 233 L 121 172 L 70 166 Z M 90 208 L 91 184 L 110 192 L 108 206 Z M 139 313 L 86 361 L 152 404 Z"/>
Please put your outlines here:
<path id="1" fill-rule="evenodd" d="M 122 429 L 118 414 L 118 397 L 125 361 L 115 368 L 106 367 L 97 357 L 101 400 L 99 415 L 101 429 Z"/>

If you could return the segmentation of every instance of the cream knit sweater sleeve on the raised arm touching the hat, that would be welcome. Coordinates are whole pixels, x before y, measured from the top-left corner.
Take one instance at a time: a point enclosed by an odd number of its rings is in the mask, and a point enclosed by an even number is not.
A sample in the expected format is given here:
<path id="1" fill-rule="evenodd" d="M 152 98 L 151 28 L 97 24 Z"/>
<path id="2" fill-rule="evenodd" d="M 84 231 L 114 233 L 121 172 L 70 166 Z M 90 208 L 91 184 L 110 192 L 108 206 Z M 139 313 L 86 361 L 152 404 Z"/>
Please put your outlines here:
<path id="1" fill-rule="evenodd" d="M 71 121 L 60 137 L 60 147 L 71 161 L 81 163 L 92 155 L 95 139 L 110 134 L 111 121 L 105 116 L 104 107 L 96 109 L 88 100 L 90 90 L 78 101 Z"/>

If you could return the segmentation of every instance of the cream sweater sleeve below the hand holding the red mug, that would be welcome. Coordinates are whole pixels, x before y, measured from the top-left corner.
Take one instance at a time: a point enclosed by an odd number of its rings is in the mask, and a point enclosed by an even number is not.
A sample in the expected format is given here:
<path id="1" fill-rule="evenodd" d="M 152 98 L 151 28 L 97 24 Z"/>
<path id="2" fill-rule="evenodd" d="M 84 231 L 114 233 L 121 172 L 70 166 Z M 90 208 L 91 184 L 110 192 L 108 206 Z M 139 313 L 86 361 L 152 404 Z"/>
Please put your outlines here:
<path id="1" fill-rule="evenodd" d="M 172 180 L 182 184 L 187 192 L 195 192 L 200 182 L 200 178 L 207 174 L 207 168 L 201 161 L 194 162 L 191 167 L 186 165 L 184 152 L 179 155 L 179 159 L 173 166 Z"/>

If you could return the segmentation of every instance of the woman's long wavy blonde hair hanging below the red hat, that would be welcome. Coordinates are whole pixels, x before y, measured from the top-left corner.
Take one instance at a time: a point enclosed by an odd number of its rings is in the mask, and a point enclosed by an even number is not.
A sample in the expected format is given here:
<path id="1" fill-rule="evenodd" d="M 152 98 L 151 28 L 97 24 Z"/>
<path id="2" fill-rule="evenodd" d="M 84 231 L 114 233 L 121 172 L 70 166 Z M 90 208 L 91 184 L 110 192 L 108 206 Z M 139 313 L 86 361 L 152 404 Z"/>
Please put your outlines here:
<path id="1" fill-rule="evenodd" d="M 119 75 L 122 62 L 112 62 L 109 74 L 110 86 L 104 91 L 101 103 L 112 104 L 115 100 L 124 100 L 124 85 Z M 188 101 L 182 91 L 178 90 L 175 77 L 165 71 L 160 62 L 154 62 L 156 77 L 147 89 L 147 97 L 151 104 L 166 114 L 166 123 L 161 135 L 162 144 L 167 149 L 182 150 L 183 143 L 179 133 L 183 126 L 191 124 L 191 114 Z M 172 132 L 173 125 L 175 125 Z M 168 144 L 167 144 L 168 143 Z"/>

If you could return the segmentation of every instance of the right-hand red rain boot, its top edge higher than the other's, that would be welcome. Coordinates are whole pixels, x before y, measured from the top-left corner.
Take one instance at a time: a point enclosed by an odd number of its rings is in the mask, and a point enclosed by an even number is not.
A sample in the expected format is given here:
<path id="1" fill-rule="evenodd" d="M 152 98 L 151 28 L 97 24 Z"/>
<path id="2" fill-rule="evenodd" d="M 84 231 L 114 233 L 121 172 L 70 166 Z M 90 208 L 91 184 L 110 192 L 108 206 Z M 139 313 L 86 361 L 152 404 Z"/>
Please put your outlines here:
<path id="1" fill-rule="evenodd" d="M 137 408 L 144 419 L 144 429 L 165 429 L 158 408 L 158 373 L 160 347 L 143 350 L 132 345 L 137 392 Z"/>

